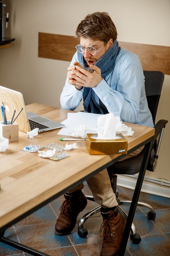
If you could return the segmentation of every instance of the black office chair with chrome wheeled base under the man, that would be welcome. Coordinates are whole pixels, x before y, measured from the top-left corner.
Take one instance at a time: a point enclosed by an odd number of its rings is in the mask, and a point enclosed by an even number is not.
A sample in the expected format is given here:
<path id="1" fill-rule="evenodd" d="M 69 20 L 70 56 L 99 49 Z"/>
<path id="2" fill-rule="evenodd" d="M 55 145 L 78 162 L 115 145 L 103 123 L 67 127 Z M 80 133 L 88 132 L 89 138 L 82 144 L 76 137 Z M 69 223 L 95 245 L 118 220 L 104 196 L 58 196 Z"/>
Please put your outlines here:
<path id="1" fill-rule="evenodd" d="M 163 85 L 164 74 L 160 71 L 144 71 L 144 76 L 145 76 L 145 90 L 146 90 L 148 106 L 149 106 L 149 109 L 150 109 L 150 112 L 152 114 L 152 118 L 153 118 L 153 121 L 155 124 L 155 117 L 156 117 L 157 107 L 158 107 L 161 89 L 162 89 L 162 85 Z M 129 158 L 129 159 L 126 159 L 124 161 L 116 162 L 115 164 L 113 164 L 107 168 L 107 171 L 108 171 L 108 174 L 110 177 L 110 182 L 112 184 L 113 191 L 116 196 L 118 196 L 117 175 L 116 174 L 134 175 L 136 173 L 139 173 L 139 171 L 140 172 L 142 171 L 145 174 L 146 169 L 148 171 L 155 171 L 155 168 L 157 165 L 157 159 L 158 159 L 161 138 L 163 135 L 163 129 L 165 128 L 166 123 L 168 123 L 167 120 L 159 120 L 157 122 L 157 124 L 154 126 L 155 136 L 154 136 L 154 141 L 153 141 L 151 149 L 149 149 L 147 152 L 145 152 L 147 150 L 146 149 L 147 146 L 145 146 L 144 149 L 141 151 L 141 153 L 139 153 L 139 155 Z M 149 160 L 148 160 L 148 154 L 150 154 Z M 147 155 L 147 158 L 146 158 L 146 155 Z M 148 163 L 146 161 L 148 161 Z M 147 168 L 146 168 L 146 166 L 147 166 Z M 143 169 L 143 170 L 141 170 L 141 169 Z M 139 182 L 140 183 L 138 185 L 139 187 L 137 188 L 137 191 L 139 193 L 141 190 L 143 180 L 144 180 L 144 175 L 143 175 L 143 178 Z M 135 188 L 135 191 L 136 191 L 136 188 Z M 136 196 L 135 191 L 134 191 L 134 196 Z M 86 195 L 86 198 L 88 200 L 94 201 L 92 195 Z M 137 201 L 138 201 L 138 198 L 139 198 L 139 195 L 137 196 Z M 127 219 L 126 213 L 120 208 L 119 205 L 130 206 L 132 201 L 119 200 L 119 198 L 117 197 L 117 202 L 118 202 L 119 211 L 121 211 L 121 213 Z M 137 205 L 148 207 L 150 209 L 150 211 L 148 212 L 148 219 L 150 219 L 150 220 L 155 219 L 156 213 L 151 205 L 143 203 L 143 202 L 136 202 L 136 206 Z M 136 210 L 136 206 L 135 206 L 135 210 Z M 100 208 L 101 208 L 100 205 L 97 206 L 95 209 L 89 211 L 80 219 L 79 224 L 78 224 L 78 235 L 80 237 L 83 238 L 83 237 L 87 236 L 87 234 L 88 234 L 87 229 L 83 226 L 84 222 L 89 217 L 93 216 L 95 213 L 98 213 L 100 211 Z M 135 210 L 134 209 L 131 210 L 131 207 L 130 207 L 129 213 L 130 213 L 130 211 L 134 211 L 132 213 L 134 216 Z M 132 216 L 132 220 L 133 220 L 133 216 Z M 129 231 L 131 230 L 130 239 L 132 240 L 132 243 L 139 244 L 141 241 L 141 237 L 139 234 L 136 233 L 136 229 L 132 223 L 132 220 L 131 220 L 130 227 L 129 227 Z M 122 238 L 122 240 L 123 240 L 123 238 Z M 126 240 L 127 239 L 128 238 L 126 238 Z"/>

